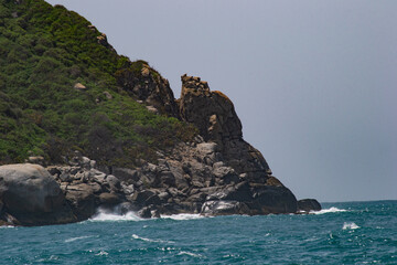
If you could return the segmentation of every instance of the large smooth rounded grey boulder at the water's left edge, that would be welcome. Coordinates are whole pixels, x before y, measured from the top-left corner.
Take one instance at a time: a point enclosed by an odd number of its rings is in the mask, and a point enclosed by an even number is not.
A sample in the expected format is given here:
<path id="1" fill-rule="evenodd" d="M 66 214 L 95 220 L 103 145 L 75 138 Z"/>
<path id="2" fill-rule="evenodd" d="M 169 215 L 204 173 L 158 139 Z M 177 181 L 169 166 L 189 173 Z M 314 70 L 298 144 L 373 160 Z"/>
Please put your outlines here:
<path id="1" fill-rule="evenodd" d="M 3 215 L 12 215 L 14 224 L 44 225 L 77 221 L 58 183 L 39 165 L 1 166 L 0 201 Z"/>

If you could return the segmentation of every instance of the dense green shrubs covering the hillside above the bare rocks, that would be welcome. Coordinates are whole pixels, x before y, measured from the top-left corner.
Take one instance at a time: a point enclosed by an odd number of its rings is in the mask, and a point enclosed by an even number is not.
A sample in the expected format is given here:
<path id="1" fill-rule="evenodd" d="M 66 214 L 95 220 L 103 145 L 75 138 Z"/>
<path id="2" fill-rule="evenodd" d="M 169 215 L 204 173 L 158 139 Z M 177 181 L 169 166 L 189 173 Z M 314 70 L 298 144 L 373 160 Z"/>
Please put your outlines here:
<path id="1" fill-rule="evenodd" d="M 139 81 L 143 64 L 119 56 L 62 6 L 0 0 L 0 165 L 29 156 L 62 162 L 79 150 L 103 165 L 133 167 L 191 139 L 194 128 L 149 113 L 118 86 L 120 73 Z"/>

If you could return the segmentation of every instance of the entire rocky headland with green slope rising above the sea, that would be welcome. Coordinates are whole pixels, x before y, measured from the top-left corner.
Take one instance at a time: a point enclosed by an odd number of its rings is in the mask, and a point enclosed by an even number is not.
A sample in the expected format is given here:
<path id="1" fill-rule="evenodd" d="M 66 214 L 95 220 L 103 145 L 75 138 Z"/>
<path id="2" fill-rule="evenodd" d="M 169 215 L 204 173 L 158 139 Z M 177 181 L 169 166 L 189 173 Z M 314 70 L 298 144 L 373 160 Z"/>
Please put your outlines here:
<path id="1" fill-rule="evenodd" d="M 175 99 L 159 72 L 117 55 L 78 14 L 41 0 L 1 4 L 0 165 L 31 163 L 0 167 L 0 225 L 76 222 L 98 208 L 142 218 L 319 210 L 272 176 L 207 82 L 183 75 Z"/>

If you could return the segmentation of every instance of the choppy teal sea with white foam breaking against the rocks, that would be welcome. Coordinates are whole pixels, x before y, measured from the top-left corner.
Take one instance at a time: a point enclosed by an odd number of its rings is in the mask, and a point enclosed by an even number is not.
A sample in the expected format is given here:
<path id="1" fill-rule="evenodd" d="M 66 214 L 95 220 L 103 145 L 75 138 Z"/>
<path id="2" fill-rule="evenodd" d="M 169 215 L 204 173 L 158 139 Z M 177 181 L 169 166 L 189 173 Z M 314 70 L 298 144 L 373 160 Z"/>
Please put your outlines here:
<path id="1" fill-rule="evenodd" d="M 98 211 L 65 225 L 0 227 L 0 264 L 397 264 L 397 201 L 321 203 L 311 214 Z"/>

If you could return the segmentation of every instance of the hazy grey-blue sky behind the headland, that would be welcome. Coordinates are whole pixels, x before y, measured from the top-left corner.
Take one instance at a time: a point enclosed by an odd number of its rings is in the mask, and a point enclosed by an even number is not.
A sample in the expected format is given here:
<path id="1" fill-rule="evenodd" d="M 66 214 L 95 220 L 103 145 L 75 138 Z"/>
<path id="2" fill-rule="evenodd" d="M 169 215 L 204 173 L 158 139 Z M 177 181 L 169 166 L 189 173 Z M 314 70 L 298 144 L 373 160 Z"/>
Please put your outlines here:
<path id="1" fill-rule="evenodd" d="M 298 199 L 397 199 L 396 0 L 50 0 L 234 102 L 244 138 Z"/>

